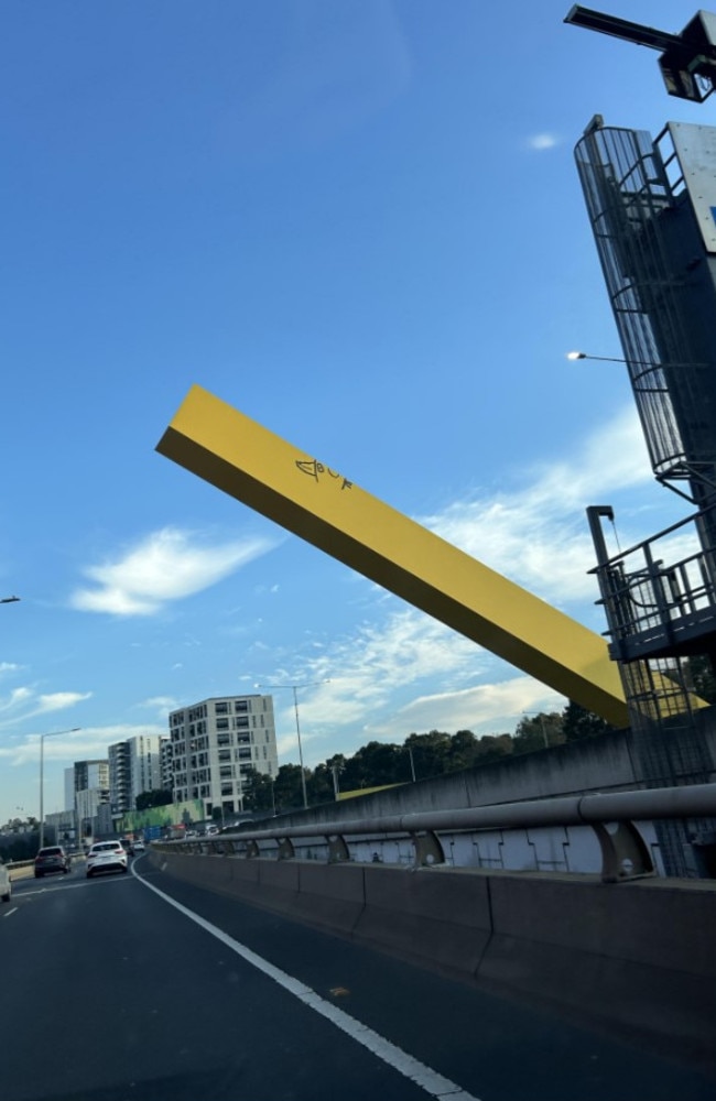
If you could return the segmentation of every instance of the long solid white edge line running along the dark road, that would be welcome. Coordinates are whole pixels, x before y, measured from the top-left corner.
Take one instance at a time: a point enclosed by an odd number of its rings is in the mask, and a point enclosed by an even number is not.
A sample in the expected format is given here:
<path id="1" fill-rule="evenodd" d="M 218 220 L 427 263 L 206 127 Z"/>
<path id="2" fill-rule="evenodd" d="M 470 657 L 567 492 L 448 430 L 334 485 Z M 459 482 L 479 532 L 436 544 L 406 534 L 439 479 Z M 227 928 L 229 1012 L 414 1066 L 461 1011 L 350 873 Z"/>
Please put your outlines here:
<path id="1" fill-rule="evenodd" d="M 228 935 L 228 933 L 224 933 L 224 930 L 219 929 L 216 925 L 211 925 L 211 923 L 207 922 L 206 918 L 195 914 L 193 909 L 188 909 L 186 906 L 183 906 L 181 902 L 176 902 L 176 900 L 172 898 L 171 895 L 160 891 L 160 889 L 155 887 L 153 883 L 148 883 L 147 880 L 137 875 L 133 868 L 132 875 L 134 875 L 135 879 L 138 879 L 139 882 L 148 889 L 148 891 L 153 891 L 154 894 L 158 894 L 160 898 L 163 898 L 164 902 L 170 904 L 170 906 L 177 909 L 180 914 L 184 914 L 185 917 L 195 922 L 196 925 L 205 929 L 206 933 L 210 933 L 213 937 L 216 937 L 216 939 L 220 940 L 223 945 L 226 945 L 226 947 L 236 952 L 237 956 L 245 959 L 247 963 L 251 963 L 252 967 L 258 968 L 258 970 L 262 971 L 263 974 L 269 977 L 269 979 L 273 979 L 273 981 L 278 982 L 280 986 L 288 990 L 290 994 L 293 994 L 294 998 L 297 998 L 299 1001 L 304 1003 L 304 1005 L 307 1005 L 308 1009 L 315 1010 L 316 1013 L 326 1017 L 336 1026 L 336 1028 L 340 1028 L 341 1032 L 347 1033 L 351 1039 L 357 1040 L 358 1044 L 362 1044 L 364 1047 L 367 1047 L 368 1050 L 372 1051 L 372 1054 L 378 1056 L 379 1059 L 387 1062 L 389 1067 L 398 1070 L 401 1075 L 404 1075 L 405 1078 L 410 1078 L 411 1081 L 415 1082 L 415 1084 L 423 1089 L 426 1093 L 430 1093 L 431 1097 L 447 1098 L 449 1101 L 479 1101 L 479 1098 L 476 1098 L 473 1093 L 467 1093 L 459 1086 L 456 1086 L 455 1082 L 452 1082 L 449 1078 L 444 1078 L 442 1075 L 438 1075 L 436 1070 L 432 1070 L 432 1068 L 426 1067 L 424 1062 L 420 1062 L 417 1059 L 414 1059 L 412 1055 L 403 1051 L 402 1048 L 398 1047 L 395 1044 L 391 1044 L 389 1039 L 386 1039 L 379 1033 L 373 1032 L 372 1028 L 368 1028 L 367 1025 L 361 1024 L 360 1021 L 356 1021 L 356 1018 L 349 1016 L 348 1013 L 344 1013 L 343 1010 L 337 1009 L 330 1002 L 326 1002 L 326 1000 L 323 999 L 321 994 L 316 994 L 315 990 L 312 990 L 311 986 L 306 986 L 303 982 L 300 982 L 299 979 L 294 979 L 292 975 L 286 974 L 285 971 L 274 967 L 273 963 L 269 963 L 269 961 L 264 960 L 262 956 L 257 956 L 257 953 L 251 951 L 250 948 L 247 948 L 246 945 L 235 940 L 234 937 Z"/>

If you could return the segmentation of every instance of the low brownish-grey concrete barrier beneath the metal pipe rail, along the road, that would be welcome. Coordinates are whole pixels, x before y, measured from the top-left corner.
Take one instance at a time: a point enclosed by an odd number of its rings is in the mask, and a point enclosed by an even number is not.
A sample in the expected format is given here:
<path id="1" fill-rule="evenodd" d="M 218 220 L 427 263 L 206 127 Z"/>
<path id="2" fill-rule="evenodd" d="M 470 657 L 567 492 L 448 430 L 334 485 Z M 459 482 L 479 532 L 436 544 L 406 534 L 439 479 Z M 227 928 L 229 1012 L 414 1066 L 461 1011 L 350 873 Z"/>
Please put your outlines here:
<path id="1" fill-rule="evenodd" d="M 153 849 L 171 875 L 716 1072 L 716 883 L 247 860 Z"/>

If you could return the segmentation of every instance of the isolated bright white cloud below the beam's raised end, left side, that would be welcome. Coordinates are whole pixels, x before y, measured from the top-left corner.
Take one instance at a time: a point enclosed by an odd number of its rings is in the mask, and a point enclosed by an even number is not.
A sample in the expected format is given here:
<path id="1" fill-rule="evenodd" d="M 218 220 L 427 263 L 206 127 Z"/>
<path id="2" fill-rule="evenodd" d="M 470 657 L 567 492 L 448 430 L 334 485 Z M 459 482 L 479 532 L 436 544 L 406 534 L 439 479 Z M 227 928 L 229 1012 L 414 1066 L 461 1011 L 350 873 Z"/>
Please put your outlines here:
<path id="1" fill-rule="evenodd" d="M 275 546 L 245 538 L 202 546 L 195 534 L 175 527 L 153 532 L 113 562 L 88 566 L 94 588 L 77 589 L 70 603 L 110 615 L 153 615 L 165 603 L 200 592 Z"/>

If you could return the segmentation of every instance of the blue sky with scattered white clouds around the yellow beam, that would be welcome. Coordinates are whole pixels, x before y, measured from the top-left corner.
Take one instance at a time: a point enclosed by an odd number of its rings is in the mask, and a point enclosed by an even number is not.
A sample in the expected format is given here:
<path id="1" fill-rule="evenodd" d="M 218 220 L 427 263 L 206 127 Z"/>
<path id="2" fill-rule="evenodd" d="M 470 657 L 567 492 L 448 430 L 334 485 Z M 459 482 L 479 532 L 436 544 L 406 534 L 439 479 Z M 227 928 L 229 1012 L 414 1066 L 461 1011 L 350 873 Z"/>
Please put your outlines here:
<path id="1" fill-rule="evenodd" d="M 585 508 L 651 477 L 573 162 L 595 113 L 710 122 L 568 0 L 8 0 L 0 821 L 256 683 L 314 765 L 554 691 L 154 448 L 199 383 L 603 631 Z M 681 30 L 686 2 L 621 0 Z M 297 760 L 290 691 L 281 763 Z M 22 808 L 19 810 L 19 808 Z"/>

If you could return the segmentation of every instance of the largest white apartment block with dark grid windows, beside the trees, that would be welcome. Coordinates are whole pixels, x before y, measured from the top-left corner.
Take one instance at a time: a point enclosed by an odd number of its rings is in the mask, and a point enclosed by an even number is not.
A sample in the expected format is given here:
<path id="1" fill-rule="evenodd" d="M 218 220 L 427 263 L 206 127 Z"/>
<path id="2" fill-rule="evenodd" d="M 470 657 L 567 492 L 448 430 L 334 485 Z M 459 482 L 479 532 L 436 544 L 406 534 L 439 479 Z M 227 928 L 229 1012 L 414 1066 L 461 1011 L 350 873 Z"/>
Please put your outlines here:
<path id="1" fill-rule="evenodd" d="M 272 696 L 221 696 L 172 711 L 173 798 L 203 799 L 207 817 L 243 809 L 247 772 L 279 771 Z"/>

